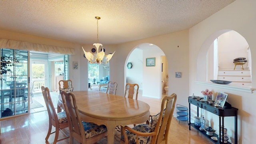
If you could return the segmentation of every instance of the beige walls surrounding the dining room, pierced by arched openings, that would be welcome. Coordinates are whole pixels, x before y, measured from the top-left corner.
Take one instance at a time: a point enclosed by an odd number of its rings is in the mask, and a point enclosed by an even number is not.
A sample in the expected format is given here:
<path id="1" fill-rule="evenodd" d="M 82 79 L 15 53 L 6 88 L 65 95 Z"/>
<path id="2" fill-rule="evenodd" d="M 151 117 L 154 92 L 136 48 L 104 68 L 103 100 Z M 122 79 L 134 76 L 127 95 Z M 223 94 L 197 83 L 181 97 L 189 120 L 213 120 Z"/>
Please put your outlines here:
<path id="1" fill-rule="evenodd" d="M 162 49 L 168 61 L 169 94 L 176 93 L 177 104 L 188 106 L 188 96 L 192 94 L 202 96 L 200 93 L 206 88 L 216 92 L 228 93 L 228 102 L 238 108 L 238 140 L 239 144 L 253 144 L 256 133 L 256 102 L 255 92 L 242 92 L 235 88 L 219 88 L 209 85 L 199 85 L 196 81 L 205 81 L 205 54 L 214 39 L 228 30 L 235 30 L 241 34 L 251 48 L 252 62 L 255 62 L 256 55 L 256 17 L 255 0 L 236 0 L 226 8 L 213 14 L 206 20 L 193 26 L 189 30 L 182 30 L 171 34 L 146 38 L 117 45 L 104 45 L 106 53 L 116 50 L 110 60 L 110 78 L 118 82 L 118 95 L 124 94 L 126 76 L 127 56 L 142 43 L 152 43 Z M 23 40 L 28 42 L 49 44 L 54 46 L 71 47 L 76 49 L 76 55 L 70 56 L 72 61 L 78 61 L 78 70 L 70 68 L 70 79 L 74 82 L 75 90 L 87 90 L 88 88 L 88 66 L 87 60 L 83 57 L 81 46 L 90 51 L 92 44 L 73 44 L 48 38 L 40 38 L 26 34 L 18 34 L 7 31 L 0 31 L 1 38 Z M 182 72 L 182 78 L 175 78 L 175 72 Z M 256 88 L 256 64 L 252 63 L 252 86 Z M 202 111 L 203 112 L 203 111 Z M 208 124 L 218 128 L 218 116 L 203 112 Z M 192 107 L 192 116 L 196 115 L 195 107 Z M 234 118 L 225 118 L 225 127 L 228 128 L 228 137 L 234 142 Z"/>

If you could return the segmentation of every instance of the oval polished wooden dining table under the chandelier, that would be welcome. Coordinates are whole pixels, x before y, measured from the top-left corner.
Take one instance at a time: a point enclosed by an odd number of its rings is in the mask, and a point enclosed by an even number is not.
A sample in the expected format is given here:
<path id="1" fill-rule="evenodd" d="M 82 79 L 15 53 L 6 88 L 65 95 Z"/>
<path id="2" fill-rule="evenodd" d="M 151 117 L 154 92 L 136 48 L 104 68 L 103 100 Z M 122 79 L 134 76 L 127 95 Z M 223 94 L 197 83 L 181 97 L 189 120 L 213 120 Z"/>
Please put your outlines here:
<path id="1" fill-rule="evenodd" d="M 150 106 L 140 100 L 96 91 L 73 93 L 81 119 L 108 128 L 108 144 L 114 144 L 116 126 L 141 124 L 150 116 Z"/>

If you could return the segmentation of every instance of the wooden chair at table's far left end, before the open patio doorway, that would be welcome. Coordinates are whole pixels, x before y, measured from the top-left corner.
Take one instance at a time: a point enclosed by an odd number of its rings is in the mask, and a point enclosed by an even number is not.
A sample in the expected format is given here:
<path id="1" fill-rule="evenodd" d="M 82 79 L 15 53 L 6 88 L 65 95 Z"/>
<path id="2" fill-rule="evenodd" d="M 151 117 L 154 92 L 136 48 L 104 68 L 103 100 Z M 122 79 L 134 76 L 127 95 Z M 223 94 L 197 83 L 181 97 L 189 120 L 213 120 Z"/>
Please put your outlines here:
<path id="1" fill-rule="evenodd" d="M 72 86 L 72 80 L 60 80 L 59 81 L 60 94 L 64 90 L 66 92 L 73 92 L 74 88 Z M 58 99 L 57 112 L 61 112 L 64 109 L 64 105 L 60 98 Z"/>

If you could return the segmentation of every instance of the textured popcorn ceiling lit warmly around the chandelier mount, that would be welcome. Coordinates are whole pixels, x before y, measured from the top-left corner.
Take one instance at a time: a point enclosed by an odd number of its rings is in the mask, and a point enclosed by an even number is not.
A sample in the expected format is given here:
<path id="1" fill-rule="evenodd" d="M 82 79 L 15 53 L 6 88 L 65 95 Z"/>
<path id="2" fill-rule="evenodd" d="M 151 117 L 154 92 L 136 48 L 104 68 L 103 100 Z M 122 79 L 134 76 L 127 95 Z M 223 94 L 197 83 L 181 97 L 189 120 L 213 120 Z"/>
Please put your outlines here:
<path id="1" fill-rule="evenodd" d="M 1 0 L 0 29 L 118 44 L 190 28 L 235 0 Z"/>

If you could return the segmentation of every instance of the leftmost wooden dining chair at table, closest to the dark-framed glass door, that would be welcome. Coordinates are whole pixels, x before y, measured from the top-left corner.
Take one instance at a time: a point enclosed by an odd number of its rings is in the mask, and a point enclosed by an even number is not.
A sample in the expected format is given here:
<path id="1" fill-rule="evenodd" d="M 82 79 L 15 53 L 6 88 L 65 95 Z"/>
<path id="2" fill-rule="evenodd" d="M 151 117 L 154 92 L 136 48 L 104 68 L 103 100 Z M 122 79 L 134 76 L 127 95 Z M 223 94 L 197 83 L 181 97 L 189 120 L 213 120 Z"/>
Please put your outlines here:
<path id="1" fill-rule="evenodd" d="M 69 138 L 69 136 L 67 136 L 64 132 L 62 132 L 63 128 L 68 127 L 68 119 L 66 117 L 66 112 L 56 113 L 56 110 L 52 104 L 52 98 L 50 96 L 49 88 L 42 86 L 41 90 L 42 90 L 42 94 L 44 96 L 44 101 L 45 101 L 46 108 L 47 108 L 48 115 L 49 115 L 49 129 L 48 129 L 48 133 L 46 135 L 45 140 L 48 141 L 50 134 L 55 133 L 53 144 L 56 144 L 56 142 L 58 142 L 58 141 Z M 52 126 L 54 126 L 56 128 L 56 130 L 54 132 L 51 132 Z M 61 131 L 66 137 L 58 140 L 59 131 Z"/>

